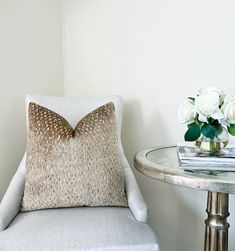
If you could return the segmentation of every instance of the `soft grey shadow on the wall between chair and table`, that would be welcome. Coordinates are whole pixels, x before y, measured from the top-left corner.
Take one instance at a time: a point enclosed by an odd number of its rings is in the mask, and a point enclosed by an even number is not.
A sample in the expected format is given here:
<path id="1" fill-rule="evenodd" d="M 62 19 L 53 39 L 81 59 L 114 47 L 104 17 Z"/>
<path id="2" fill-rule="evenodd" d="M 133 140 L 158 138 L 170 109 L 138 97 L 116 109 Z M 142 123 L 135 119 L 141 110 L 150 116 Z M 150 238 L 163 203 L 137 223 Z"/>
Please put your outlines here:
<path id="1" fill-rule="evenodd" d="M 123 114 L 122 141 L 129 163 L 133 168 L 134 154 L 142 149 L 169 142 L 164 119 L 157 110 L 148 117 L 143 113 L 139 100 L 125 103 Z M 148 204 L 149 223 L 156 232 L 162 250 L 202 250 L 203 221 L 182 199 L 180 189 L 148 178 L 134 170 L 137 182 Z M 184 191 L 185 192 L 185 191 Z M 190 193 L 191 190 L 186 192 Z"/>

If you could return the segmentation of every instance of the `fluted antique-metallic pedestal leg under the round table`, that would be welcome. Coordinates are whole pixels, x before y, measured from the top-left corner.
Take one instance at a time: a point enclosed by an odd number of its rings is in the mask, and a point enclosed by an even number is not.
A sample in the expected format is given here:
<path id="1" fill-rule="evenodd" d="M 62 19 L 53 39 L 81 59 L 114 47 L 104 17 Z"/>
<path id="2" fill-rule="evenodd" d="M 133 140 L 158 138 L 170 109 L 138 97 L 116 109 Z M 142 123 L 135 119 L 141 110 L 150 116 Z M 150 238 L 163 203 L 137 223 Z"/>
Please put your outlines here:
<path id="1" fill-rule="evenodd" d="M 208 192 L 204 251 L 228 251 L 229 194 Z"/>

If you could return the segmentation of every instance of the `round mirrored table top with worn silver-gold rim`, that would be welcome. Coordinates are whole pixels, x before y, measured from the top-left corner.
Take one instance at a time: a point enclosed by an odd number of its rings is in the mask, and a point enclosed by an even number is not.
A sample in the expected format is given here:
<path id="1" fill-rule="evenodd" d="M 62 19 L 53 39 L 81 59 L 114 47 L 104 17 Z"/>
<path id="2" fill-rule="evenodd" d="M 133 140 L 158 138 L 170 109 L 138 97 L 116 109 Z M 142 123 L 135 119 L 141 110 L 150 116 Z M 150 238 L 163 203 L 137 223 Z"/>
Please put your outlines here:
<path id="1" fill-rule="evenodd" d="M 235 193 L 235 172 L 184 170 L 176 146 L 156 147 L 135 155 L 135 168 L 157 180 L 184 187 Z"/>

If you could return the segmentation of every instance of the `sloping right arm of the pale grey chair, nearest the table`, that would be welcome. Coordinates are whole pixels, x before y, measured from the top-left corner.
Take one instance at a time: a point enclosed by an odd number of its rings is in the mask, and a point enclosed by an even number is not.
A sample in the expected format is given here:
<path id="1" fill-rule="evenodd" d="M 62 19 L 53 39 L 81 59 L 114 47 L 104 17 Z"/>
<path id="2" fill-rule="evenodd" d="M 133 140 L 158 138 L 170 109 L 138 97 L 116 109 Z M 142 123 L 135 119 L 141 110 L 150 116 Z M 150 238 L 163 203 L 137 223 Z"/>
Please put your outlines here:
<path id="1" fill-rule="evenodd" d="M 139 190 L 139 186 L 136 182 L 135 176 L 129 166 L 125 165 L 124 179 L 125 188 L 128 200 L 128 206 L 135 216 L 136 220 L 147 223 L 148 221 L 148 207 L 143 199 L 143 196 Z"/>

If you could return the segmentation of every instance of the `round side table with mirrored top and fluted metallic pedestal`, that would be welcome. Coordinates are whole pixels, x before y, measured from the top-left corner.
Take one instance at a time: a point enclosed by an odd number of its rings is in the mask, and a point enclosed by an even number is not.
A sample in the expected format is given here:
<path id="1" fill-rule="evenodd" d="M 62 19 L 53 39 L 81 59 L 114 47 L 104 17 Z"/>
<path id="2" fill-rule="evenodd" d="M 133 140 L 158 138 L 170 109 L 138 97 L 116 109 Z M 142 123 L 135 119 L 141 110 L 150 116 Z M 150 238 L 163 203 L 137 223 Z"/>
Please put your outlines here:
<path id="1" fill-rule="evenodd" d="M 235 172 L 185 171 L 176 146 L 163 146 L 135 155 L 135 168 L 157 180 L 208 191 L 204 251 L 227 251 L 229 194 L 235 193 Z"/>

